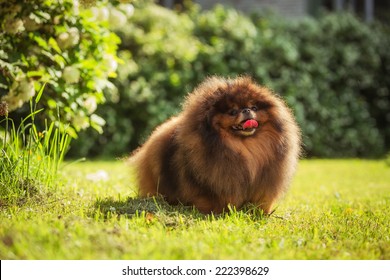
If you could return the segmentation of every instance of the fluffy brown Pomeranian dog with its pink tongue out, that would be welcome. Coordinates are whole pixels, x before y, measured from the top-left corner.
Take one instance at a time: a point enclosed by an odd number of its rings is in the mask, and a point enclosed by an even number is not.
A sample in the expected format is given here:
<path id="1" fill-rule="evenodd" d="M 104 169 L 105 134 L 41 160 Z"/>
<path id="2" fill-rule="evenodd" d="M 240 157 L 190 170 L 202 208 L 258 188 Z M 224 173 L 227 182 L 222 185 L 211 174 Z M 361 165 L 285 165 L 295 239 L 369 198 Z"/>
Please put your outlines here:
<path id="1" fill-rule="evenodd" d="M 300 131 L 285 103 L 248 77 L 212 77 L 135 151 L 140 195 L 221 213 L 252 203 L 271 213 L 287 190 Z"/>

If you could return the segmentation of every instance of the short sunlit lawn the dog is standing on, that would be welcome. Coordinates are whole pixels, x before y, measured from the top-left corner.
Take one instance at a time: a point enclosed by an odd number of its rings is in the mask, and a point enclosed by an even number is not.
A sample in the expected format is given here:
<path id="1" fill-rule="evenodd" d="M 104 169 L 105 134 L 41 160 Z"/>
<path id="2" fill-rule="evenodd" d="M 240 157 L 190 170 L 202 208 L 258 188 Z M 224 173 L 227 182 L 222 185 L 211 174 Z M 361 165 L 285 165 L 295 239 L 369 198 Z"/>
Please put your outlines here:
<path id="1" fill-rule="evenodd" d="M 137 199 L 121 161 L 70 164 L 58 183 L 0 208 L 0 259 L 390 259 L 384 161 L 302 161 L 271 217 Z"/>

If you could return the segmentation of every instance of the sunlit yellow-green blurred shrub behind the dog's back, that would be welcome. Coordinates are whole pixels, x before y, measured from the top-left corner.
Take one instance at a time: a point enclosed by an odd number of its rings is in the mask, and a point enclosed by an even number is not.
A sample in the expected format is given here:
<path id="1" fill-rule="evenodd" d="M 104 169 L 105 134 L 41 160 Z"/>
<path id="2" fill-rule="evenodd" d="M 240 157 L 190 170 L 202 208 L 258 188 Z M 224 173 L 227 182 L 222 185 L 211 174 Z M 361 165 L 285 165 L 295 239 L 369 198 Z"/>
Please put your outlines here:
<path id="1" fill-rule="evenodd" d="M 186 91 L 199 81 L 199 73 L 204 74 L 193 68 L 203 51 L 191 36 L 193 28 L 186 14 L 156 5 L 136 8 L 126 28 L 117 31 L 122 41 L 118 56 L 124 61 L 113 79 L 118 97 L 97 110 L 106 120 L 105 131 L 102 135 L 83 132 L 71 156 L 128 153 L 156 125 L 178 112 Z"/>

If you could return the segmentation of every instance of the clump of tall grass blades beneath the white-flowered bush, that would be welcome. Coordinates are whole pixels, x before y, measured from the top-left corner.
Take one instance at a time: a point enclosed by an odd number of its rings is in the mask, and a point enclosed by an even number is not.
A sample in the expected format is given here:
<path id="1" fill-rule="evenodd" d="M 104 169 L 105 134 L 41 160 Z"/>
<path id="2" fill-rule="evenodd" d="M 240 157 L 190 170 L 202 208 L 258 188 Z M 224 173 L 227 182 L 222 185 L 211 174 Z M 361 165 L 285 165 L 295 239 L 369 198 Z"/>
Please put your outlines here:
<path id="1" fill-rule="evenodd" d="M 36 125 L 44 110 L 37 109 L 43 89 L 30 100 L 31 113 L 17 127 L 8 118 L 7 103 L 0 104 L 4 116 L 0 120 L 0 207 L 23 203 L 57 186 L 57 172 L 71 138 L 60 121 L 45 121 L 43 129 Z"/>

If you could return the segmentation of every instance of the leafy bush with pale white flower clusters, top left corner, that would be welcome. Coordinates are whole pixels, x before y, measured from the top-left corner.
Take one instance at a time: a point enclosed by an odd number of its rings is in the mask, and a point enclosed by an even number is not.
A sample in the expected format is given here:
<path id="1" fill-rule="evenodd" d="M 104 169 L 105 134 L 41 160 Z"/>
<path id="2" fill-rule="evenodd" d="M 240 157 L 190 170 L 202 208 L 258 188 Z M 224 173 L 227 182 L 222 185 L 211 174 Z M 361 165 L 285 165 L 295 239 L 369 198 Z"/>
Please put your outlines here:
<path id="1" fill-rule="evenodd" d="M 94 111 L 105 100 L 108 78 L 115 77 L 119 43 L 107 24 L 77 3 L 0 0 L 1 100 L 25 116 L 28 100 L 46 83 L 42 119 L 55 120 L 59 111 L 73 137 L 89 126 L 102 131 L 104 120 Z"/>

